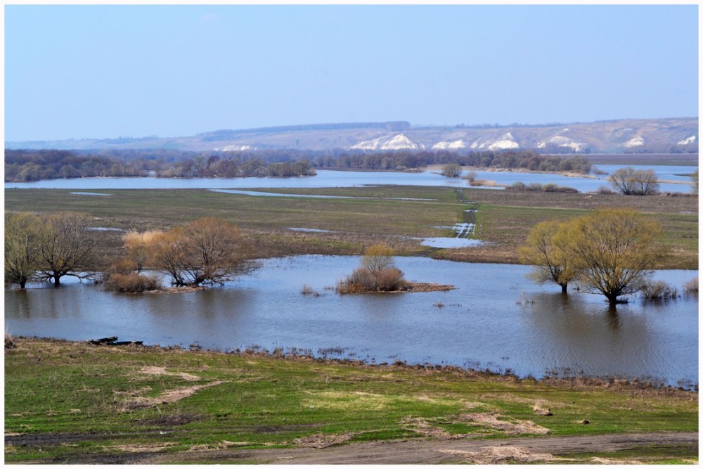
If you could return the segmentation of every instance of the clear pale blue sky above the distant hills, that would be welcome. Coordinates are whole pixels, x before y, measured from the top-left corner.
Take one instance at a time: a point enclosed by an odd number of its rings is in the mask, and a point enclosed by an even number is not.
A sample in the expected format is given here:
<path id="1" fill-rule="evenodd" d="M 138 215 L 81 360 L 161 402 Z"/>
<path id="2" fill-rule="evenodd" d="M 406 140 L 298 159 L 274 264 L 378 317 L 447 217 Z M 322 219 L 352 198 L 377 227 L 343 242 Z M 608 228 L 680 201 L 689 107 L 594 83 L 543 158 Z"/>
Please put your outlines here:
<path id="1" fill-rule="evenodd" d="M 697 117 L 698 6 L 5 6 L 6 141 Z"/>

